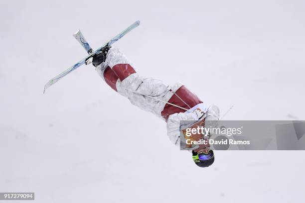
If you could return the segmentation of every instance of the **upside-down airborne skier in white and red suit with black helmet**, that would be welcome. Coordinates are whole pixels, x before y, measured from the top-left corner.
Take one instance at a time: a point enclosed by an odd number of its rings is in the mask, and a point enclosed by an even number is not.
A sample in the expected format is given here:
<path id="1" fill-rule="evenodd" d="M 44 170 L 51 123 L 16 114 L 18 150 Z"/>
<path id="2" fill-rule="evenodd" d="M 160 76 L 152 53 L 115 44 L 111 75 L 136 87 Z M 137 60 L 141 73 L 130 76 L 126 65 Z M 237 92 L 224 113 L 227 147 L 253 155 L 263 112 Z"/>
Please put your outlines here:
<path id="1" fill-rule="evenodd" d="M 117 48 L 104 47 L 93 57 L 93 66 L 105 82 L 120 95 L 145 111 L 152 112 L 166 121 L 170 141 L 180 146 L 180 120 L 194 120 L 197 125 L 219 119 L 219 109 L 203 102 L 181 83 L 169 86 L 158 79 L 139 75 L 133 64 Z M 198 140 L 200 136 L 194 136 Z M 183 136 L 181 139 L 184 139 Z M 214 162 L 214 153 L 207 145 L 191 145 L 193 160 L 199 167 Z"/>

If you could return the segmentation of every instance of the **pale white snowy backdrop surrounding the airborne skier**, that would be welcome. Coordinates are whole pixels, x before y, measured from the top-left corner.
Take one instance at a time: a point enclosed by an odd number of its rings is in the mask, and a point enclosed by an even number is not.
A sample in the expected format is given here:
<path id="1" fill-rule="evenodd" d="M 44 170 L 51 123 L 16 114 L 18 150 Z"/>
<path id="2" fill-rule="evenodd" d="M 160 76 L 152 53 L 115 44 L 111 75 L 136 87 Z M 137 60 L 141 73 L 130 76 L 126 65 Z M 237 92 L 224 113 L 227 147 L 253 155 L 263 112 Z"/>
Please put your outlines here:
<path id="1" fill-rule="evenodd" d="M 115 44 L 138 71 L 186 84 L 225 119 L 305 119 L 304 0 L 0 1 L 0 192 L 38 203 L 301 202 L 304 151 L 216 151 L 196 167 L 83 66 L 44 84 L 136 20 Z M 11 201 L 13 203 L 13 201 Z"/>

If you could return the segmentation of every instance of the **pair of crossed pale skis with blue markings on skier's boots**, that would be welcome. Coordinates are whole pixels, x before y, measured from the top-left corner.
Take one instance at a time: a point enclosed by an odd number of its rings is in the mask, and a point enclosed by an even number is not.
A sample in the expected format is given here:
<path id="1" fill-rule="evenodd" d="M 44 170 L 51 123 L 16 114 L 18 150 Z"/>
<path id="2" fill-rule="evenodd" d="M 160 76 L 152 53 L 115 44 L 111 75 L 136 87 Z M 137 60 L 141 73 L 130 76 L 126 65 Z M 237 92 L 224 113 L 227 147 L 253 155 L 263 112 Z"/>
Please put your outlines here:
<path id="1" fill-rule="evenodd" d="M 61 74 L 55 76 L 54 78 L 52 78 L 48 83 L 45 84 L 44 86 L 44 90 L 43 93 L 45 93 L 46 89 L 48 89 L 50 86 L 54 85 L 57 81 L 59 81 L 60 79 L 62 79 L 63 77 L 65 77 L 66 75 L 68 75 L 69 73 L 71 73 L 72 71 L 74 71 L 75 69 L 77 69 L 78 67 L 80 67 L 83 64 L 90 64 L 90 62 L 92 61 L 92 57 L 94 54 L 96 54 L 97 52 L 101 51 L 101 49 L 103 47 L 105 47 L 106 45 L 112 45 L 113 43 L 115 43 L 116 41 L 118 41 L 119 39 L 121 39 L 124 35 L 126 35 L 128 32 L 130 32 L 131 30 L 133 30 L 134 28 L 138 27 L 140 25 L 140 21 L 136 21 L 133 24 L 131 24 L 128 28 L 126 28 L 125 30 L 123 30 L 120 34 L 118 34 L 117 36 L 115 36 L 114 38 L 112 38 L 111 40 L 109 40 L 108 42 L 106 42 L 103 46 L 101 46 L 100 48 L 98 48 L 97 50 L 95 50 L 94 52 L 90 53 L 89 50 L 91 49 L 91 47 L 89 46 L 89 44 L 86 42 L 86 40 L 84 40 L 85 43 L 88 44 L 87 47 L 85 45 L 83 45 L 83 47 L 86 49 L 86 51 L 88 51 L 89 56 L 83 58 L 82 60 L 80 60 L 79 62 L 77 62 L 76 64 L 74 64 L 73 66 L 71 66 L 70 68 L 68 68 L 67 70 L 65 70 L 64 72 L 62 72 Z M 77 33 L 75 33 L 77 34 Z M 75 37 L 75 36 L 74 36 Z M 75 37 L 77 39 L 77 37 Z M 83 38 L 84 39 L 84 38 Z M 80 43 L 81 40 L 80 40 Z M 89 48 L 89 49 L 88 49 Z M 88 50 L 87 50 L 88 49 Z"/>

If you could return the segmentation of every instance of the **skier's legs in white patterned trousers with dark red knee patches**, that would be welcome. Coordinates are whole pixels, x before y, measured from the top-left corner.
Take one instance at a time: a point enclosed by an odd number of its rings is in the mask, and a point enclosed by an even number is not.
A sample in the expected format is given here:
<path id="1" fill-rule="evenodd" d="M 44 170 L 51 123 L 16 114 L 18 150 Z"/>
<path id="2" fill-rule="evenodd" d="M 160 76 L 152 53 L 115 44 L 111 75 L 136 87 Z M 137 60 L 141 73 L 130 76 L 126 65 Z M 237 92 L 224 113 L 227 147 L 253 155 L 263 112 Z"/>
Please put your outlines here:
<path id="1" fill-rule="evenodd" d="M 143 110 L 160 114 L 159 111 L 164 107 L 164 103 L 145 95 L 163 100 L 166 94 L 170 94 L 167 84 L 157 79 L 140 76 L 128 58 L 116 48 L 109 50 L 103 64 L 104 67 L 99 65 L 97 71 L 112 89 Z"/>

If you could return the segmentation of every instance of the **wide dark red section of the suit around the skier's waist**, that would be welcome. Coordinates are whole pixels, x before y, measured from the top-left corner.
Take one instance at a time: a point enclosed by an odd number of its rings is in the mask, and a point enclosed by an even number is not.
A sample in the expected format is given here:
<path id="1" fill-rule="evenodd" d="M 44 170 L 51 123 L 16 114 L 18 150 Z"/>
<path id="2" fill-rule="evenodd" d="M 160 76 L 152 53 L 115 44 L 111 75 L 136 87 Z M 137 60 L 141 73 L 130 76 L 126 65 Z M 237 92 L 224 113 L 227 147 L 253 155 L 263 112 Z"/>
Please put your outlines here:
<path id="1" fill-rule="evenodd" d="M 198 103 L 203 103 L 194 93 L 189 91 L 184 85 L 182 85 L 175 93 L 191 108 L 197 105 Z M 189 109 L 188 105 L 182 102 L 176 95 L 171 96 L 168 102 Z M 166 103 L 163 110 L 161 111 L 161 116 L 165 118 L 165 121 L 167 121 L 169 115 L 180 112 L 185 112 L 185 110 Z"/>

